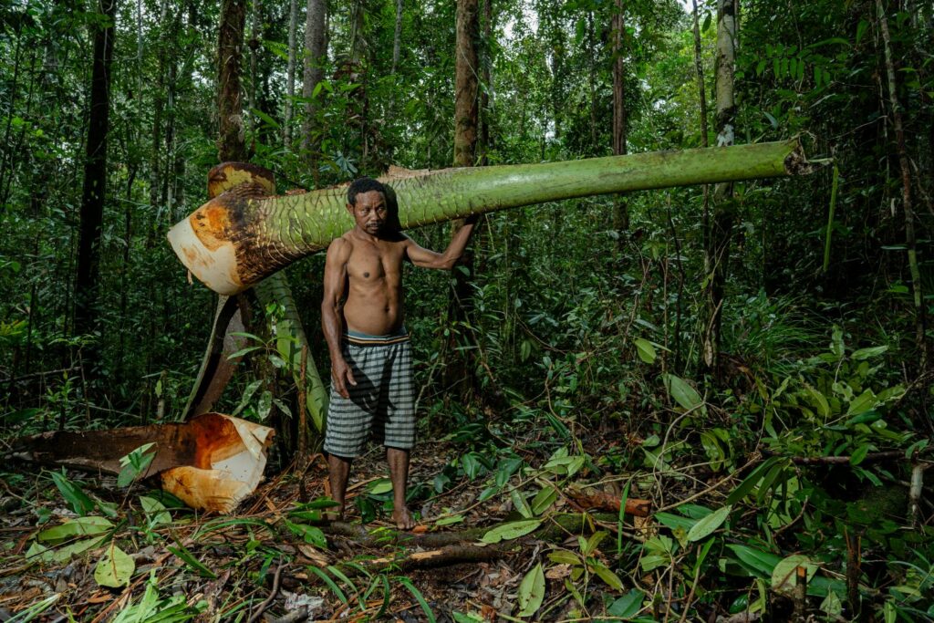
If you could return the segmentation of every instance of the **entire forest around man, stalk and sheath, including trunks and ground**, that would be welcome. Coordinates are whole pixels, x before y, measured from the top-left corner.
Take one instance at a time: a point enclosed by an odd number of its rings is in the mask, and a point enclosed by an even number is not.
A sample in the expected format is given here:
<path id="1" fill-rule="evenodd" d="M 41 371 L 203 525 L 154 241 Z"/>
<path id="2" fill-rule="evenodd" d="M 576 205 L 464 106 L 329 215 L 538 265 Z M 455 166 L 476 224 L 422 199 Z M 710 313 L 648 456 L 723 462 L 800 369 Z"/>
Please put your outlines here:
<path id="1" fill-rule="evenodd" d="M 223 525 L 145 448 L 119 476 L 5 461 L 0 620 L 934 619 L 934 3 L 7 0 L 0 24 L 5 458 L 206 411 L 276 433 Z M 391 510 L 375 455 L 355 527 L 321 516 L 323 254 L 219 299 L 166 241 L 223 162 L 297 203 L 791 138 L 824 166 L 505 209 L 451 272 L 405 268 L 431 533 L 389 553 L 357 531 Z"/>

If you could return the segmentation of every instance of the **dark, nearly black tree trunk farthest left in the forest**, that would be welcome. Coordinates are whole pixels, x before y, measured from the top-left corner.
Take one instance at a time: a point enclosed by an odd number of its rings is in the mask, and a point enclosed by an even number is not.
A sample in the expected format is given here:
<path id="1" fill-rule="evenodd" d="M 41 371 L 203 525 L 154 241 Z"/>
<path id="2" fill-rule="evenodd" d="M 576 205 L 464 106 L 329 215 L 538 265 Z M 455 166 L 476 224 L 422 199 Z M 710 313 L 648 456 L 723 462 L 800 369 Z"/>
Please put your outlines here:
<path id="1" fill-rule="evenodd" d="M 81 197 L 78 275 L 75 279 L 75 333 L 92 333 L 97 324 L 101 230 L 107 185 L 107 132 L 110 123 L 110 66 L 113 62 L 116 0 L 101 0 L 104 19 L 94 32 L 91 114 Z"/>

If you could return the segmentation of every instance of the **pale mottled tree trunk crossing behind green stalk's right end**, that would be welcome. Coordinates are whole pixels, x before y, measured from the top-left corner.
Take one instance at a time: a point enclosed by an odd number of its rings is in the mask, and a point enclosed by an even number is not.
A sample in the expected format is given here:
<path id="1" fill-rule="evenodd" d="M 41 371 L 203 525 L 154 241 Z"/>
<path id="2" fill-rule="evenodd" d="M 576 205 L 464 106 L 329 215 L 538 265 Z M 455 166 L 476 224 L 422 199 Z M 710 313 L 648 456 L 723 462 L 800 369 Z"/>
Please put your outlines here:
<path id="1" fill-rule="evenodd" d="M 733 73 L 736 64 L 736 10 L 738 0 L 717 0 L 716 7 L 716 144 L 733 144 L 736 103 L 733 97 Z M 704 248 L 704 272 L 708 287 L 702 344 L 703 366 L 715 375 L 720 373 L 720 337 L 723 300 L 729 268 L 729 242 L 732 237 L 735 206 L 733 185 L 717 184 L 714 191 L 714 215 Z"/>

